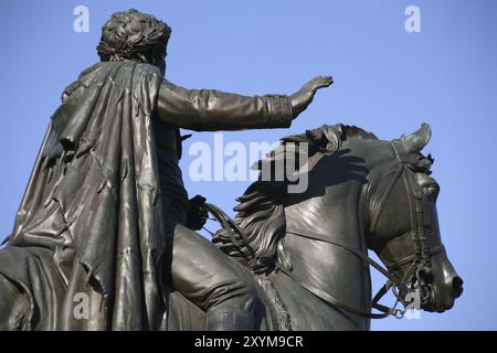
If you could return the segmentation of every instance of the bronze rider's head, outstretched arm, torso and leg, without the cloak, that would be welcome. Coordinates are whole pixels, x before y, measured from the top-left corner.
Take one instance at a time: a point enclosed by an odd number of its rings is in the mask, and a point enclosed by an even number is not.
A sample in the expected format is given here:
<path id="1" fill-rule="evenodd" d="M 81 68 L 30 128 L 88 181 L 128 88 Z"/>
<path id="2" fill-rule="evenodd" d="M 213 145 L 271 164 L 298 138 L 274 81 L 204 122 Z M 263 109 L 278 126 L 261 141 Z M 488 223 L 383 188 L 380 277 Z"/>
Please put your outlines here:
<path id="1" fill-rule="evenodd" d="M 133 41 L 147 33 L 151 43 Z M 103 62 L 138 61 L 166 71 L 170 28 L 156 18 L 129 10 L 114 14 L 104 25 L 97 47 Z M 144 35 L 144 41 L 147 36 Z M 120 50 L 123 49 L 123 50 Z M 188 200 L 181 171 L 179 128 L 195 131 L 287 128 L 311 103 L 317 89 L 332 78 L 316 77 L 292 96 L 246 97 L 210 89 L 186 89 L 163 81 L 157 103 L 154 131 L 165 217 L 172 232 L 172 285 L 207 311 L 207 330 L 253 330 L 255 289 L 246 275 L 219 256 L 207 240 L 180 225 L 200 229 L 205 222 L 203 197 Z M 188 215 L 190 215 L 188 217 Z M 192 256 L 194 254 L 194 256 Z"/>

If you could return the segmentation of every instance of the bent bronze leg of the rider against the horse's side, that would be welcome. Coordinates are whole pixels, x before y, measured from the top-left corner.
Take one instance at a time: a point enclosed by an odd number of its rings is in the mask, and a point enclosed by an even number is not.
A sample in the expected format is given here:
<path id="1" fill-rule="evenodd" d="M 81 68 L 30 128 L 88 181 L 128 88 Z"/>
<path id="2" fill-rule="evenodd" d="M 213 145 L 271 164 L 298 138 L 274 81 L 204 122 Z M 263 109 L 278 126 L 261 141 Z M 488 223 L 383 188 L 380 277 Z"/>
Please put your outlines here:
<path id="1" fill-rule="evenodd" d="M 172 285 L 205 310 L 205 330 L 254 330 L 257 297 L 247 272 L 181 225 L 177 226 L 172 243 Z"/>

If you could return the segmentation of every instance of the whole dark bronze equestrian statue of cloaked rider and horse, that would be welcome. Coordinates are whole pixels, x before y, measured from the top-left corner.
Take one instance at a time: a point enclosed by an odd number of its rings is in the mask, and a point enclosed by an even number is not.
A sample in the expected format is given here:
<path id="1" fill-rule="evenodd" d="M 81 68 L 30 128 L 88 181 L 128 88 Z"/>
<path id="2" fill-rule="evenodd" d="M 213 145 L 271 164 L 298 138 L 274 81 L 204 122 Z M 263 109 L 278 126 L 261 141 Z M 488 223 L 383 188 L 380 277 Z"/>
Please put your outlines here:
<path id="1" fill-rule="evenodd" d="M 163 78 L 169 35 L 151 15 L 115 13 L 102 62 L 64 90 L 0 249 L 1 330 L 363 330 L 402 314 L 379 304 L 389 288 L 404 304 L 414 292 L 425 310 L 453 306 L 462 279 L 421 154 L 427 126 L 392 142 L 342 125 L 284 138 L 257 168 L 308 146 L 308 190 L 261 179 L 232 221 L 188 199 L 179 128 L 288 127 L 332 79 L 292 96 L 184 89 Z M 192 231 L 205 208 L 225 226 L 213 243 Z M 366 264 L 389 278 L 373 300 Z"/>

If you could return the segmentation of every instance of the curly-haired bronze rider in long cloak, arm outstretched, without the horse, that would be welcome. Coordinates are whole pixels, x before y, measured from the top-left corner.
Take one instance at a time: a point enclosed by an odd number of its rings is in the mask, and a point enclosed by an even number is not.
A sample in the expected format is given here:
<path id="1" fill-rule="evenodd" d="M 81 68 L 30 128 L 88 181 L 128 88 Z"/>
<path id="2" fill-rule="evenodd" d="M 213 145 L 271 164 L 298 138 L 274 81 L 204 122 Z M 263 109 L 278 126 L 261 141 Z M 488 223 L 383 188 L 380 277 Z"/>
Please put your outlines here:
<path id="1" fill-rule="evenodd" d="M 181 88 L 163 79 L 169 35 L 155 17 L 115 13 L 101 62 L 64 90 L 0 250 L 0 329 L 181 329 L 165 317 L 183 314 L 181 297 L 207 330 L 256 329 L 248 274 L 192 231 L 204 199 L 188 200 L 179 129 L 289 127 L 332 79 L 292 96 Z"/>

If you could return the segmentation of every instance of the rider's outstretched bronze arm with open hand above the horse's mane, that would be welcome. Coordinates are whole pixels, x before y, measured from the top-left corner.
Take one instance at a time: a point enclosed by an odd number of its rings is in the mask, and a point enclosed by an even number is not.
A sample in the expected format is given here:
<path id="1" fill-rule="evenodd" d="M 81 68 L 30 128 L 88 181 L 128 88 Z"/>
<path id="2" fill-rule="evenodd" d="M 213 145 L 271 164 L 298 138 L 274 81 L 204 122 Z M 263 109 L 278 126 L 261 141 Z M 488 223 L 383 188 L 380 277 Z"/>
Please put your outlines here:
<path id="1" fill-rule="evenodd" d="M 292 96 L 242 96 L 215 89 L 187 89 L 165 81 L 159 90 L 158 118 L 195 131 L 287 128 L 313 101 L 331 76 L 316 77 Z"/>

